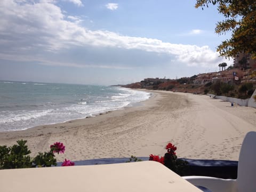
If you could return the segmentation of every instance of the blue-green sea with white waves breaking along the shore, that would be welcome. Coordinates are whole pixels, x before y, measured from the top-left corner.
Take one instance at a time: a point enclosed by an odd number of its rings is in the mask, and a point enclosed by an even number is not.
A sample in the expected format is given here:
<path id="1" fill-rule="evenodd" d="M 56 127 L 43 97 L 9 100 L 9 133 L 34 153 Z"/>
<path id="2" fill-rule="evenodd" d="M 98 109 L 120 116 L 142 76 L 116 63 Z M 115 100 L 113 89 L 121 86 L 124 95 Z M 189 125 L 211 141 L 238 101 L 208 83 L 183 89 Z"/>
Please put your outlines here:
<path id="1" fill-rule="evenodd" d="M 118 86 L 0 81 L 0 132 L 92 117 L 149 97 Z"/>

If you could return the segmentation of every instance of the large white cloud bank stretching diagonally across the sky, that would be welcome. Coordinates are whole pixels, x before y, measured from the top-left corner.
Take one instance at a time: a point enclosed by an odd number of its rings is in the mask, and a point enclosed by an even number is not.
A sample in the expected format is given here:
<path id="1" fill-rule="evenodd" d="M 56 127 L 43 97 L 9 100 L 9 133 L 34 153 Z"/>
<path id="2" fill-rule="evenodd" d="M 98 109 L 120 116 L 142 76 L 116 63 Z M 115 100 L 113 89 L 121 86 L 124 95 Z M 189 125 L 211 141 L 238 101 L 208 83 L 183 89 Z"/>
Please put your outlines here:
<path id="1" fill-rule="evenodd" d="M 91 46 L 105 47 L 106 51 L 111 47 L 166 54 L 188 66 L 215 66 L 221 60 L 218 53 L 208 46 L 172 44 L 106 30 L 93 31 L 79 26 L 81 20 L 78 17 L 65 15 L 60 7 L 49 3 L 49 0 L 33 4 L 29 2 L 24 0 L 18 4 L 10 0 L 0 1 L 0 59 L 23 57 L 39 61 L 43 60 L 45 52 L 58 54 L 61 50 Z M 99 67 L 107 68 L 102 62 L 99 62 Z M 76 65 L 72 63 L 71 66 Z"/>

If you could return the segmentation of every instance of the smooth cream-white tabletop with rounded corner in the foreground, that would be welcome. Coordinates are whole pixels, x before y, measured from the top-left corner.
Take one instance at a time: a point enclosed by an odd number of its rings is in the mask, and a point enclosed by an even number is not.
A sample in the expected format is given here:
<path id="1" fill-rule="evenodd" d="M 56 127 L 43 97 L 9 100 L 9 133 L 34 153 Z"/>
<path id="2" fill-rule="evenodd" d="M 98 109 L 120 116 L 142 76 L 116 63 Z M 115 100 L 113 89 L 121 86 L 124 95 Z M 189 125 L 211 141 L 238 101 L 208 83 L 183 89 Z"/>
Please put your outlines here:
<path id="1" fill-rule="evenodd" d="M 201 191 L 158 162 L 0 170 L 0 191 Z"/>

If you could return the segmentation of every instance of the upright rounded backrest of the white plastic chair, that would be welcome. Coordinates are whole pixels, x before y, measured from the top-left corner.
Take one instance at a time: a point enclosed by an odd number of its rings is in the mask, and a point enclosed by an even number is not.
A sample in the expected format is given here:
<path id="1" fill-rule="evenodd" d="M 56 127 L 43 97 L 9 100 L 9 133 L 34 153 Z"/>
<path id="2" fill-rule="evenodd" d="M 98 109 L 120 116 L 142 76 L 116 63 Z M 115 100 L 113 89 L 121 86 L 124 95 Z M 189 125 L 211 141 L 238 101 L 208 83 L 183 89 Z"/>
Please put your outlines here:
<path id="1" fill-rule="evenodd" d="M 256 191 L 256 132 L 245 135 L 238 161 L 238 191 Z"/>

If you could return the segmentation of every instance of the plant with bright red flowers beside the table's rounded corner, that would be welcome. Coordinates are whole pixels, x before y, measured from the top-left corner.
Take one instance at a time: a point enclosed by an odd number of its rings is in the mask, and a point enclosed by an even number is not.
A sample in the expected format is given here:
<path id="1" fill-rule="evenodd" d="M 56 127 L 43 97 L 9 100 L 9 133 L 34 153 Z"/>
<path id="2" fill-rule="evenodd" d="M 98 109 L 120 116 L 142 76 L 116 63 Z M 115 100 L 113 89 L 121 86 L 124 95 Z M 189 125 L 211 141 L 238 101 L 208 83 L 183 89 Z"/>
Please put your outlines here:
<path id="1" fill-rule="evenodd" d="M 188 175 L 189 173 L 189 166 L 188 162 L 182 159 L 178 159 L 175 153 L 177 147 L 172 145 L 172 143 L 168 143 L 165 147 L 167 149 L 167 153 L 164 154 L 164 157 L 159 157 L 158 155 L 150 155 L 149 161 L 156 161 L 159 163 L 164 164 L 170 170 L 174 171 L 175 173 L 183 176 Z"/>

